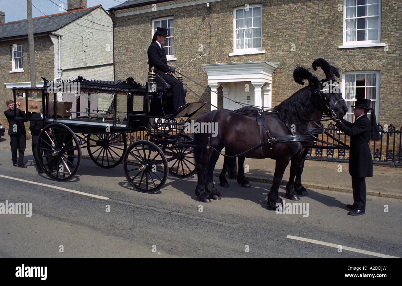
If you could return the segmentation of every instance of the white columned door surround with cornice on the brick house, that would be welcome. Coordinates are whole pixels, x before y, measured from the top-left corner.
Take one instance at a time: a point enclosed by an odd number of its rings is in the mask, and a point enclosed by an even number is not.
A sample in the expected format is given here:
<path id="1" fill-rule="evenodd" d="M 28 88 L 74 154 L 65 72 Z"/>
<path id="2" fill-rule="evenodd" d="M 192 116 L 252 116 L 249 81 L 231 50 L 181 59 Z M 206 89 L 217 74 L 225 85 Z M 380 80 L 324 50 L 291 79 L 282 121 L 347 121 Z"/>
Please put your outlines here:
<path id="1" fill-rule="evenodd" d="M 258 107 L 271 107 L 272 74 L 279 66 L 279 62 L 248 61 L 245 63 L 213 63 L 201 65 L 207 72 L 208 86 L 211 88 L 211 104 L 217 106 L 217 89 L 222 84 L 224 96 L 230 97 L 232 82 L 250 82 L 254 87 L 254 104 Z M 244 96 L 248 90 L 244 87 Z M 225 100 L 225 99 L 224 99 Z M 240 106 L 239 106 L 240 107 Z M 211 110 L 216 109 L 211 106 Z"/>

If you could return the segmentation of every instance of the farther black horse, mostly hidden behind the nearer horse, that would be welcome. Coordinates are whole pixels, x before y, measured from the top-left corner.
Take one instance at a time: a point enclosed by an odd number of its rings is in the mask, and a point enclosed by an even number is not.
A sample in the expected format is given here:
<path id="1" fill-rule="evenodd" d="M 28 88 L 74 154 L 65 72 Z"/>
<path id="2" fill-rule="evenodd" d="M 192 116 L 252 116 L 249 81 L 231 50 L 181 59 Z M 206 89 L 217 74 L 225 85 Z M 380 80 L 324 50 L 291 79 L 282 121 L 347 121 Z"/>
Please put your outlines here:
<path id="1" fill-rule="evenodd" d="M 328 82 L 331 80 L 332 84 L 338 84 L 338 82 L 335 80 L 335 76 L 336 77 L 340 77 L 338 70 L 330 65 L 326 60 L 324 59 L 316 59 L 314 60 L 314 62 L 312 63 L 312 68 L 314 70 L 317 70 L 317 67 L 321 67 L 322 71 L 324 72 L 326 78 L 324 80 L 321 80 L 321 82 Z M 301 82 L 297 82 L 298 84 L 301 84 Z M 328 84 L 328 88 L 331 88 L 331 91 L 334 90 L 334 88 L 332 88 L 331 86 L 329 86 Z M 335 92 L 334 93 L 335 99 L 337 100 L 337 102 L 343 101 L 342 98 L 342 94 L 340 94 L 339 92 Z M 342 106 L 344 112 L 346 113 L 348 111 L 347 107 L 345 105 Z M 244 107 L 236 109 L 235 111 L 238 112 L 243 112 L 244 111 Z M 319 119 L 321 118 L 322 114 L 313 114 L 312 118 L 310 118 L 310 122 L 307 125 L 307 129 L 317 129 L 316 127 L 318 126 L 319 123 Z M 318 118 L 319 117 L 319 118 Z M 314 124 L 314 119 L 318 118 Z M 314 132 L 314 131 L 312 131 Z M 317 134 L 314 134 L 315 136 L 317 136 Z M 314 142 L 309 142 L 306 143 L 308 145 L 312 145 Z M 306 159 L 308 153 L 308 148 L 304 148 L 303 150 L 303 156 L 301 161 L 299 162 L 299 167 L 297 168 L 297 173 L 296 173 L 296 177 L 295 177 L 295 182 L 294 182 L 294 188 L 295 191 L 297 192 L 297 194 L 302 195 L 302 196 L 308 196 L 308 192 L 306 191 L 306 188 L 304 188 L 304 186 L 301 184 L 301 174 L 303 173 L 303 169 L 304 169 L 304 161 Z M 231 153 L 229 150 L 226 151 L 225 155 L 234 155 L 233 153 Z M 234 157 L 225 157 L 224 158 L 224 165 L 222 167 L 222 172 L 219 175 L 219 185 L 221 187 L 224 188 L 228 188 L 229 187 L 229 183 L 226 180 L 226 173 L 228 173 L 228 178 L 230 179 L 237 179 L 237 182 L 245 188 L 250 188 L 251 184 L 250 182 L 248 182 L 248 180 L 246 179 L 246 177 L 244 176 L 244 160 L 245 157 L 242 156 L 238 156 L 238 170 L 236 168 L 236 158 Z"/>

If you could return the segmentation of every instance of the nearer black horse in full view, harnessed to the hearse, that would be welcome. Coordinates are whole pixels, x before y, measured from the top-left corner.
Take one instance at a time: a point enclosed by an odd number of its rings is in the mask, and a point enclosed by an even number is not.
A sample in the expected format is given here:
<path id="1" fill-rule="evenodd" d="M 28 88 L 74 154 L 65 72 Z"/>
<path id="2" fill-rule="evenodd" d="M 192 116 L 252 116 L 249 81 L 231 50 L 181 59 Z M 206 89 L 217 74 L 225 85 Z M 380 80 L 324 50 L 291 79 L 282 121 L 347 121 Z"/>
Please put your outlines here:
<path id="1" fill-rule="evenodd" d="M 274 139 L 290 138 L 289 125 L 295 126 L 294 134 L 304 135 L 308 125 L 311 124 L 310 118 L 319 120 L 322 112 L 331 116 L 335 114 L 338 118 L 342 118 L 345 114 L 345 102 L 336 100 L 336 94 L 323 93 L 324 83 L 329 82 L 329 80 L 322 82 L 303 67 L 297 67 L 293 72 L 293 77 L 299 84 L 304 84 L 303 79 L 307 79 L 309 84 L 276 106 L 276 112 L 263 113 L 265 115 L 263 122 L 268 130 L 263 134 L 263 141 L 267 141 L 269 135 Z M 338 102 L 340 103 L 337 104 Z M 195 194 L 199 200 L 210 202 L 210 199 L 219 200 L 221 198 L 219 191 L 215 189 L 213 184 L 213 170 L 219 157 L 218 152 L 222 151 L 223 147 L 244 157 L 268 157 L 276 160 L 274 180 L 268 194 L 268 207 L 270 209 L 276 209 L 277 203 L 282 204 L 282 200 L 278 196 L 279 184 L 285 168 L 291 161 L 286 197 L 291 200 L 299 200 L 294 189 L 294 178 L 303 159 L 304 148 L 302 143 L 308 143 L 312 139 L 305 139 L 304 142 L 301 140 L 279 141 L 253 148 L 261 143 L 260 128 L 256 124 L 255 116 L 221 109 L 203 114 L 197 122 L 217 123 L 218 127 L 216 137 L 211 137 L 210 134 L 205 133 L 194 135 L 195 145 L 207 146 L 195 148 L 198 176 Z"/>

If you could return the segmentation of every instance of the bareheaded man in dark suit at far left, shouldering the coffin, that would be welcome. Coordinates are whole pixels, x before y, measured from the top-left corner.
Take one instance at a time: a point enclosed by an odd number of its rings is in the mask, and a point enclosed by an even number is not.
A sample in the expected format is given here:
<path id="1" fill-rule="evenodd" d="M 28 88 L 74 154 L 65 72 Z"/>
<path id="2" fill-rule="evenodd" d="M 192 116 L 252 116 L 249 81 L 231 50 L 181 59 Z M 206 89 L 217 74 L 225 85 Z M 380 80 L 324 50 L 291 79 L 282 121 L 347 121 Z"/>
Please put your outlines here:
<path id="1" fill-rule="evenodd" d="M 14 102 L 12 100 L 7 100 L 6 105 L 8 109 L 4 111 L 4 115 L 8 121 L 8 135 L 10 135 L 10 146 L 11 146 L 11 158 L 12 165 L 14 167 L 27 168 L 24 164 L 24 152 L 25 146 L 27 144 L 25 137 L 25 125 L 24 122 L 28 120 L 19 120 L 14 117 L 14 111 L 16 112 L 16 117 L 24 117 L 25 112 L 22 112 L 19 107 L 19 102 L 16 102 L 16 107 L 14 110 Z M 18 150 L 18 161 L 17 161 L 17 150 Z"/>

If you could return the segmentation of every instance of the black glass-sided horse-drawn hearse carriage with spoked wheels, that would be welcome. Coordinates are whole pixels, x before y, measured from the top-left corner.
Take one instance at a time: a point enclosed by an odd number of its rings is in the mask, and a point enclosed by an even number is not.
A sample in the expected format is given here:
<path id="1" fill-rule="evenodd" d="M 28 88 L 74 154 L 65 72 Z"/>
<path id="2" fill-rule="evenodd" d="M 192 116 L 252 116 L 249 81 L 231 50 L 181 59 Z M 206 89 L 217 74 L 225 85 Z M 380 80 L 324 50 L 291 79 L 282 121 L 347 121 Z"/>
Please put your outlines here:
<path id="1" fill-rule="evenodd" d="M 193 149 L 184 147 L 192 138 L 184 134 L 184 122 L 205 103 L 193 102 L 172 107 L 171 89 L 152 72 L 146 86 L 125 81 L 85 80 L 49 82 L 42 87 L 14 87 L 14 102 L 44 128 L 37 144 L 39 163 L 53 180 L 67 181 L 78 172 L 81 147 L 102 168 L 123 161 L 125 176 L 142 192 L 155 192 L 167 174 L 185 178 L 194 174 Z M 32 118 L 43 106 L 43 119 Z M 156 123 L 156 118 L 158 123 Z M 176 123 L 181 118 L 181 125 Z M 146 131 L 149 140 L 127 147 L 127 133 Z M 141 132 L 144 137 L 144 132 Z M 141 138 L 140 138 L 141 139 Z M 142 138 L 144 139 L 144 138 Z"/>

